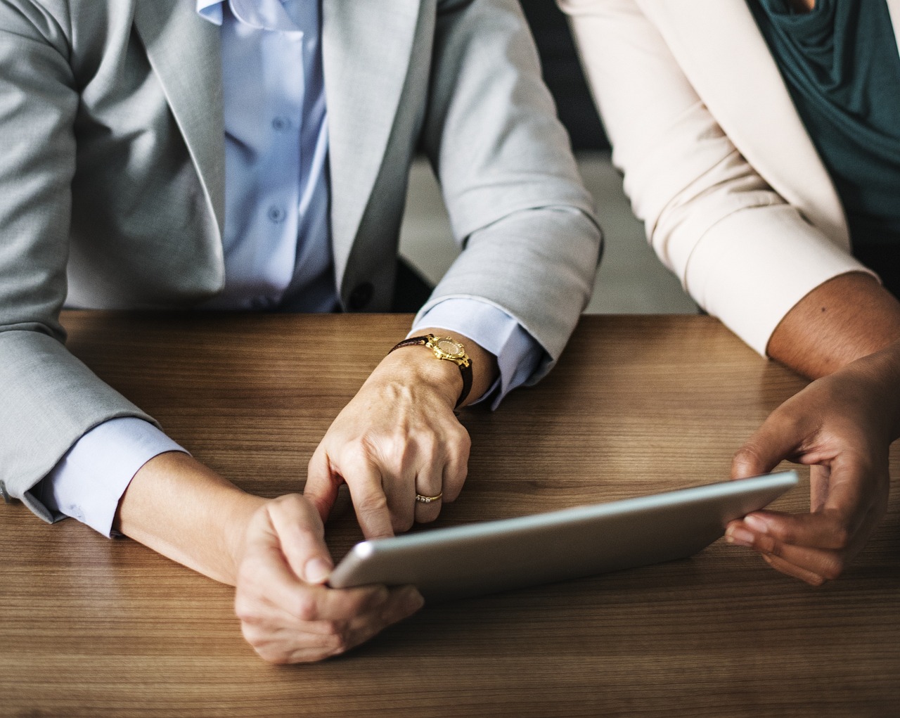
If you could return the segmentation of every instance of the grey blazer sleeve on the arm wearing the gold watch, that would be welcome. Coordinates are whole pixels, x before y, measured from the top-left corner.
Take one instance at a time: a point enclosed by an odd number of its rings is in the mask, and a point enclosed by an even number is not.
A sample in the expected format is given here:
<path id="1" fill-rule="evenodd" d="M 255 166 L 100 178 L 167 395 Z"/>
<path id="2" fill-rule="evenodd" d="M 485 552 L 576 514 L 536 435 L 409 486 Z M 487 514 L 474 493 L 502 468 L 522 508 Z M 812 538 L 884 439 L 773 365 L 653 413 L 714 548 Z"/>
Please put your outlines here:
<path id="1" fill-rule="evenodd" d="M 463 251 L 419 316 L 450 297 L 500 308 L 545 350 L 533 383 L 590 299 L 593 200 L 518 3 L 442 2 L 436 22 L 422 144 Z"/>

